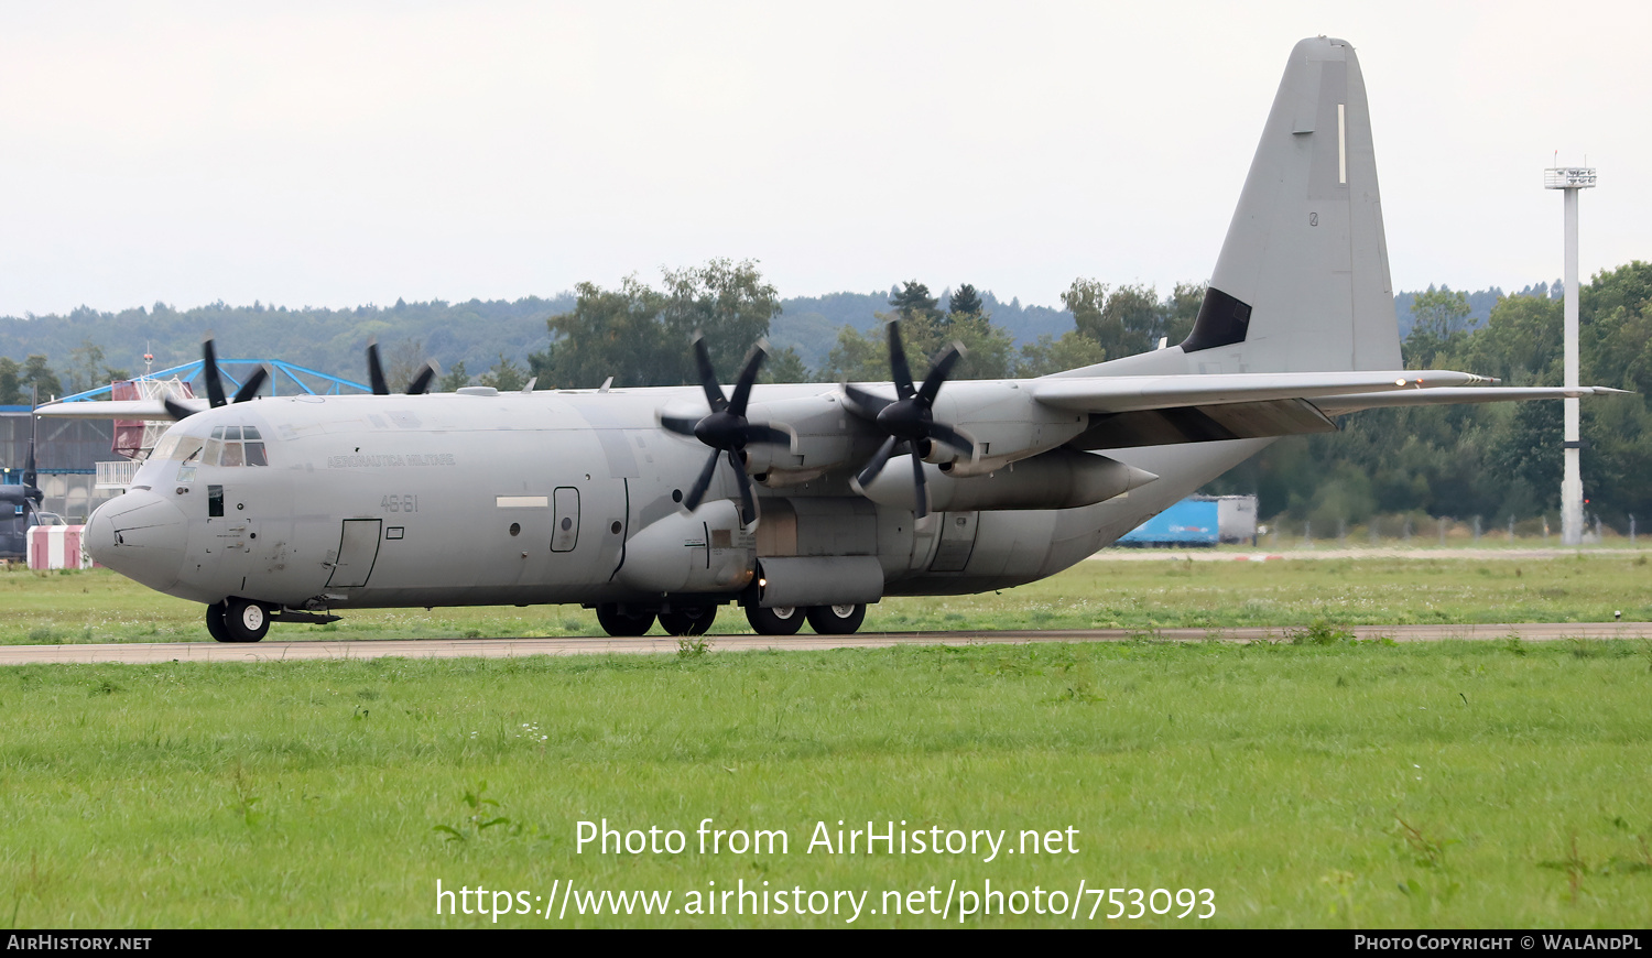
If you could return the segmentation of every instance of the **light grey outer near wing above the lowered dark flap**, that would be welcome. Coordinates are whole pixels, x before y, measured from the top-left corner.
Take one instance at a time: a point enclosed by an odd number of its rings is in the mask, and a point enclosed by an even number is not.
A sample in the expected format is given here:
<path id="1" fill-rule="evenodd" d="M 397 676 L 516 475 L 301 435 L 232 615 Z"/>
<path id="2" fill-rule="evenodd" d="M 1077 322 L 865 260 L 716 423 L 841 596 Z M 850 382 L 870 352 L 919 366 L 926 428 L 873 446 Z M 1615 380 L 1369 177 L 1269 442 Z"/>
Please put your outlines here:
<path id="1" fill-rule="evenodd" d="M 1085 413 L 1133 413 L 1222 403 L 1267 403 L 1361 393 L 1434 391 L 1490 383 L 1450 370 L 1378 370 L 1336 373 L 1211 373 L 1161 377 L 1047 377 L 1032 383 L 1046 405 Z"/>

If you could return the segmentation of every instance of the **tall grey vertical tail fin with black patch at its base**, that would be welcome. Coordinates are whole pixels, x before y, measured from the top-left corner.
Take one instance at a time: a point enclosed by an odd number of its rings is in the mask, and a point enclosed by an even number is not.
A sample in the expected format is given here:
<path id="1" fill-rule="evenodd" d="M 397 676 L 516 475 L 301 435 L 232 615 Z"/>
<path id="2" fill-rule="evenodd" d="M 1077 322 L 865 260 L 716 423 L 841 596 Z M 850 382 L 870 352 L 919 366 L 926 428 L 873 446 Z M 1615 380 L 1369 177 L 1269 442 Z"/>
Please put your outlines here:
<path id="1" fill-rule="evenodd" d="M 1181 350 L 1198 372 L 1401 367 L 1371 114 L 1348 41 L 1290 51 Z"/>

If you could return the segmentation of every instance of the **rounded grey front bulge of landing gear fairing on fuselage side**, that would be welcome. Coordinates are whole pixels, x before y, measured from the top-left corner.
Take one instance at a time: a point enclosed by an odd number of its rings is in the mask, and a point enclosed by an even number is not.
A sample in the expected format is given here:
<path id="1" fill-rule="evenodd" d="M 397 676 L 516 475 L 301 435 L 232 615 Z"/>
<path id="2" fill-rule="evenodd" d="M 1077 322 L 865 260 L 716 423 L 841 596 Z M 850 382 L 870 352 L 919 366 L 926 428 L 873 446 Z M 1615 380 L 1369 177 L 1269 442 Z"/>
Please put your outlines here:
<path id="1" fill-rule="evenodd" d="M 620 581 L 657 595 L 735 593 L 757 568 L 757 537 L 740 527 L 740 507 L 727 499 L 672 512 L 624 545 Z"/>

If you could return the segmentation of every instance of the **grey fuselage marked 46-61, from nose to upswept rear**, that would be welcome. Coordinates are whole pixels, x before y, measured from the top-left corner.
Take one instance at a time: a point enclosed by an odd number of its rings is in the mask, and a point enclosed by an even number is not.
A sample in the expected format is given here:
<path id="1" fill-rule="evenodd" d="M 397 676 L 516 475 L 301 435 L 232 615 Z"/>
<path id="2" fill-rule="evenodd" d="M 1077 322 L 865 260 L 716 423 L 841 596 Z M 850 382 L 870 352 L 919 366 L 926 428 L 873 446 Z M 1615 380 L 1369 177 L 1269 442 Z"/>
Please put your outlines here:
<path id="1" fill-rule="evenodd" d="M 960 383 L 961 385 L 961 383 Z M 785 403 L 829 385 L 758 387 Z M 705 446 L 662 431 L 657 411 L 704 403 L 694 388 L 426 396 L 291 396 L 238 403 L 175 424 L 126 496 L 88 524 L 93 557 L 150 588 L 218 603 L 385 608 L 451 605 L 727 601 L 745 576 L 692 578 L 700 557 L 742 565 L 780 557 L 864 557 L 882 595 L 960 595 L 1052 575 L 1094 553 L 1267 439 L 1127 449 L 1115 459 L 1161 479 L 1079 509 L 937 512 L 876 504 L 847 474 L 879 436 L 834 428 L 841 466 L 760 491 L 753 530 L 719 532 L 737 496 L 719 469 L 707 502 L 679 500 Z M 246 428 L 251 429 L 246 429 Z M 838 426 L 838 423 L 829 423 Z M 256 431 L 236 456 L 216 429 Z M 216 433 L 225 434 L 225 433 Z M 223 461 L 268 464 L 211 464 Z M 165 454 L 162 454 L 165 453 Z M 778 477 L 778 472 L 776 472 Z M 719 504 L 724 509 L 714 509 Z M 738 522 L 735 520 L 735 525 Z M 727 525 L 727 524 L 725 524 Z M 677 535 L 704 529 L 704 534 Z M 638 535 L 689 578 L 639 576 Z M 664 542 L 666 545 L 661 545 Z M 722 555 L 727 552 L 727 555 Z M 633 568 L 626 568 L 628 563 Z M 778 565 L 778 563 L 776 563 Z"/>

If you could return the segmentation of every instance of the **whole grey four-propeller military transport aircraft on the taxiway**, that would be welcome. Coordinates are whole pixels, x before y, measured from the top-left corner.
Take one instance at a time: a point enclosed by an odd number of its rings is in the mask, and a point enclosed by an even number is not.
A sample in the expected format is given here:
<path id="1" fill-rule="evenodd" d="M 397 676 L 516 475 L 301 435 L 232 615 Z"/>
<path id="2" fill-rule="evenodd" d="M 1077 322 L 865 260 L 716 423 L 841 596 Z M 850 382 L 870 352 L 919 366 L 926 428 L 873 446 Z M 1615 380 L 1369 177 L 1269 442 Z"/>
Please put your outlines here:
<path id="1" fill-rule="evenodd" d="M 1295 46 L 1193 334 L 1032 380 L 463 388 L 63 403 L 178 420 L 89 519 L 93 557 L 206 606 L 213 638 L 352 608 L 580 603 L 636 636 L 852 633 L 894 595 L 1034 581 L 1279 436 L 1373 406 L 1616 391 L 1495 388 L 1401 368 L 1365 84 L 1353 48 Z M 411 393 L 423 393 L 425 375 Z M 139 408 L 142 406 L 142 408 Z"/>

